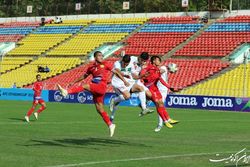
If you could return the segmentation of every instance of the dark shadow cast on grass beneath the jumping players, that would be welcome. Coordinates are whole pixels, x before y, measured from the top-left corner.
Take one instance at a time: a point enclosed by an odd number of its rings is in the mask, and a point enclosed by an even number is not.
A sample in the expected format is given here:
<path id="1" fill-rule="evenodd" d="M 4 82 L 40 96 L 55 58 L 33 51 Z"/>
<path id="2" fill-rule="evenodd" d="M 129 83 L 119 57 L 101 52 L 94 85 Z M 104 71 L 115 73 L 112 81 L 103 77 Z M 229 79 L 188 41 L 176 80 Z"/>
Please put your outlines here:
<path id="1" fill-rule="evenodd" d="M 31 140 L 28 145 L 23 146 L 60 146 L 60 147 L 86 147 L 86 146 L 104 146 L 119 147 L 121 145 L 132 147 L 150 147 L 141 143 L 132 143 L 122 140 L 106 138 L 84 138 L 84 139 L 55 139 L 55 140 Z M 33 144 L 32 144 L 33 143 Z M 92 147 L 91 147 L 92 148 Z M 97 148 L 96 148 L 97 149 Z"/>

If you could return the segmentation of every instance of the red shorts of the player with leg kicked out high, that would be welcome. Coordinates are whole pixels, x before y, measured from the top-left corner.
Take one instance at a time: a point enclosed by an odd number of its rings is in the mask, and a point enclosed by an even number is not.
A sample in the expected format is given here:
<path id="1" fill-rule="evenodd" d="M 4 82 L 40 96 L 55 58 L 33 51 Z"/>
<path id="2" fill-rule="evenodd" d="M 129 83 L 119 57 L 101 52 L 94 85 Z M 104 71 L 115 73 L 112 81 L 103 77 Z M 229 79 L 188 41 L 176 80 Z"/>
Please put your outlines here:
<path id="1" fill-rule="evenodd" d="M 94 103 L 103 103 L 104 96 L 107 90 L 107 84 L 104 82 L 90 83 L 90 92 L 93 94 Z"/>

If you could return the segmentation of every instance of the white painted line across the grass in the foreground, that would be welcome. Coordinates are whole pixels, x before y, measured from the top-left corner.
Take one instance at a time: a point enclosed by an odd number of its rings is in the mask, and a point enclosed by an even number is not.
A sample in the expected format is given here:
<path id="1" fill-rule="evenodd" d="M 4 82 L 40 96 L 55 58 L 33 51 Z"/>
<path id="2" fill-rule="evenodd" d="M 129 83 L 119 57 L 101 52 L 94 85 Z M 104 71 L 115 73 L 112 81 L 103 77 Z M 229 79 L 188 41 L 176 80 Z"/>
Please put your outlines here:
<path id="1" fill-rule="evenodd" d="M 90 161 L 90 162 L 82 162 L 82 163 L 74 163 L 74 164 L 52 165 L 52 166 L 46 166 L 46 167 L 76 167 L 76 166 L 88 166 L 88 165 L 101 165 L 101 164 L 109 164 L 109 163 L 116 163 L 116 162 L 146 161 L 146 160 L 155 160 L 155 159 L 170 159 L 170 158 L 179 158 L 179 157 L 183 158 L 183 157 L 207 156 L 207 155 L 216 155 L 216 154 L 230 154 L 230 153 L 236 153 L 236 152 L 237 151 L 227 151 L 227 152 L 221 152 L 221 153 L 213 152 L 213 153 L 163 155 L 163 156 L 155 156 L 155 157 L 141 157 L 141 158 L 117 159 L 117 160 L 107 160 L 107 161 Z"/>

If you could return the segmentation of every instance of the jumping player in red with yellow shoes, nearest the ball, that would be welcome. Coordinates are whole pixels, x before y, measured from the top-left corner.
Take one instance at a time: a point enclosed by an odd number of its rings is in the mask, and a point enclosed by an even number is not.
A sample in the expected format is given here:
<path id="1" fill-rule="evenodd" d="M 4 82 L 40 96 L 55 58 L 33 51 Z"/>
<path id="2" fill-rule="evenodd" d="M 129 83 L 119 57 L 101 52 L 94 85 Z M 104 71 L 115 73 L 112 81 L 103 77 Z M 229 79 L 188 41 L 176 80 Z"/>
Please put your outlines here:
<path id="1" fill-rule="evenodd" d="M 164 102 L 162 101 L 162 95 L 157 87 L 158 81 L 160 81 L 165 87 L 169 88 L 171 91 L 173 89 L 170 87 L 168 83 L 166 83 L 162 77 L 160 69 L 157 67 L 161 64 L 161 58 L 159 56 L 151 57 L 151 64 L 142 69 L 140 77 L 144 81 L 144 85 L 150 90 L 152 96 L 151 100 L 155 103 L 157 112 L 159 116 L 162 118 L 164 124 L 168 128 L 172 128 L 175 123 L 178 121 L 170 119 L 166 108 L 164 107 Z"/>

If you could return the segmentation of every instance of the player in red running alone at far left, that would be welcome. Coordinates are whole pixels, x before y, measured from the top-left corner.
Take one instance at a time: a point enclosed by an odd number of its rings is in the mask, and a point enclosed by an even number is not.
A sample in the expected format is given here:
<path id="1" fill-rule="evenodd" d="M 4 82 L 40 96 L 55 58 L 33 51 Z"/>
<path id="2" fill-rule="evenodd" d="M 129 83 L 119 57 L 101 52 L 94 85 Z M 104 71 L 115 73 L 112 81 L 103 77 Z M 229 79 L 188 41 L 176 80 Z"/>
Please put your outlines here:
<path id="1" fill-rule="evenodd" d="M 36 106 L 38 104 L 41 105 L 41 107 L 38 109 L 37 112 L 34 113 L 34 116 L 36 119 L 38 119 L 38 115 L 46 109 L 46 104 L 44 100 L 41 97 L 42 90 L 43 90 L 43 83 L 41 82 L 41 75 L 36 75 L 36 82 L 34 83 L 33 90 L 34 90 L 34 100 L 33 105 L 30 108 L 30 110 L 27 112 L 26 116 L 24 117 L 27 122 L 30 122 L 29 117 L 33 113 L 33 111 L 36 109 Z"/>

